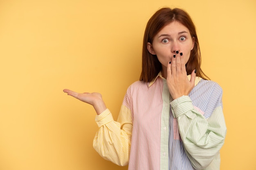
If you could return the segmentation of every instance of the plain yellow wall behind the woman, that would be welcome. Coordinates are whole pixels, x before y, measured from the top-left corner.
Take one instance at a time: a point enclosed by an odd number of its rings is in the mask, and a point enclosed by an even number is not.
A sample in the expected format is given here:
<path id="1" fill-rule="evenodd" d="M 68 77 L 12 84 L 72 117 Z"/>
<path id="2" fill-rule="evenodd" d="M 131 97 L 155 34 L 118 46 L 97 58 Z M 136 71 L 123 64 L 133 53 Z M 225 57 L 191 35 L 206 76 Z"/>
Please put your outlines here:
<path id="1" fill-rule="evenodd" d="M 92 148 L 90 105 L 64 88 L 100 92 L 117 119 L 139 80 L 146 22 L 186 9 L 202 68 L 224 91 L 221 170 L 255 170 L 255 0 L 0 0 L 0 170 L 126 170 Z"/>

